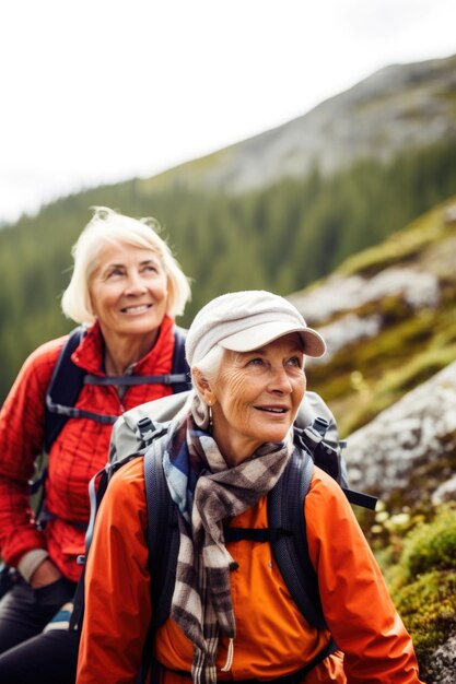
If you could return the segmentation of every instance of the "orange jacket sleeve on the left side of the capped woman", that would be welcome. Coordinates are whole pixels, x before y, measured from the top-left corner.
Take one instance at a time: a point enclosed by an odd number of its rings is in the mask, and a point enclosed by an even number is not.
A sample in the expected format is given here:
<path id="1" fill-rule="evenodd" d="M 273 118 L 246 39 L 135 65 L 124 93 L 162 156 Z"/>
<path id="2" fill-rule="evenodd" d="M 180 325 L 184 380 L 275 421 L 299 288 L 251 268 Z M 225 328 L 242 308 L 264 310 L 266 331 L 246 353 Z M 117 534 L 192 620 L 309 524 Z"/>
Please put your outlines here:
<path id="1" fill-rule="evenodd" d="M 96 517 L 85 575 L 78 684 L 135 684 L 151 621 L 142 458 L 124 465 Z"/>

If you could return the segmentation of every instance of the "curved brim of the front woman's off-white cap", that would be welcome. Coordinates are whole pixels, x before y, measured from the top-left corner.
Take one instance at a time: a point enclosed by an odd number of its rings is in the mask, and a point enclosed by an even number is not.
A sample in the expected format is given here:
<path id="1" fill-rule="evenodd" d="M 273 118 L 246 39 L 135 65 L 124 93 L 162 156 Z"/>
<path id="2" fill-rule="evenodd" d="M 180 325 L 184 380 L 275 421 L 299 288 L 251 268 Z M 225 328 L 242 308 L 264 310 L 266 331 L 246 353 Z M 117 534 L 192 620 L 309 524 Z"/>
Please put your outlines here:
<path id="1" fill-rule="evenodd" d="M 304 354 L 318 358 L 326 352 L 326 343 L 320 334 L 312 328 L 293 326 L 291 322 L 276 321 L 271 323 L 260 323 L 247 330 L 236 332 L 219 342 L 223 349 L 232 352 L 252 352 L 269 342 L 273 342 L 290 332 L 297 332 L 303 340 Z"/>

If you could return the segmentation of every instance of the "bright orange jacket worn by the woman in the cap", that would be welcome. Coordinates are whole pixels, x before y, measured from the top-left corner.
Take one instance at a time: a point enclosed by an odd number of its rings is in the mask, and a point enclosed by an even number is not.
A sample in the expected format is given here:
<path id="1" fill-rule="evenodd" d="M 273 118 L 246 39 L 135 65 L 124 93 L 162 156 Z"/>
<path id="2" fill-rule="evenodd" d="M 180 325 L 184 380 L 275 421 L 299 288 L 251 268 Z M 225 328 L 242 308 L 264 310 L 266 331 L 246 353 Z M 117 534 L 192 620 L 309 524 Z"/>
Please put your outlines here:
<path id="1" fill-rule="evenodd" d="M 418 684 L 412 644 L 381 571 L 339 486 L 315 469 L 306 502 L 312 562 L 327 624 L 339 648 L 306 684 Z M 231 521 L 265 528 L 266 497 Z M 142 459 L 125 465 L 102 502 L 86 567 L 86 612 L 78 684 L 133 684 L 151 620 L 147 510 Z M 238 563 L 231 575 L 236 615 L 234 661 L 220 680 L 270 680 L 299 670 L 328 641 L 311 627 L 276 567 L 268 543 L 229 544 Z M 153 578 L 152 578 L 153 579 Z M 171 670 L 190 671 L 192 647 L 168 618 L 159 629 L 155 657 L 168 670 L 164 684 L 188 684 Z M 226 660 L 221 639 L 218 665 Z"/>

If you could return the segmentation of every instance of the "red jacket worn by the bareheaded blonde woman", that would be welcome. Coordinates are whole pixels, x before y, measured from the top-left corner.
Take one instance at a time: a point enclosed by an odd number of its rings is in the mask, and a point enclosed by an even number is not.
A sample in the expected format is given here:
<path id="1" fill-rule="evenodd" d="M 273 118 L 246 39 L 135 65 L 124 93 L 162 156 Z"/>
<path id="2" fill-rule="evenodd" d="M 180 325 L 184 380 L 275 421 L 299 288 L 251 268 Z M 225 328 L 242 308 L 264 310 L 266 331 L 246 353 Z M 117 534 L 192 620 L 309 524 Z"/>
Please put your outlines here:
<path id="1" fill-rule="evenodd" d="M 174 321 L 165 317 L 156 344 L 135 366 L 136 375 L 171 373 L 174 351 Z M 0 549 L 9 565 L 33 549 L 47 549 L 51 561 L 70 580 L 81 568 L 75 557 L 84 550 L 89 520 L 87 484 L 106 463 L 112 425 L 89 418 L 71 418 L 49 453 L 46 508 L 56 516 L 39 532 L 31 521 L 27 481 L 34 461 L 43 450 L 46 390 L 66 338 L 43 344 L 25 361 L 0 412 Z M 93 326 L 74 351 L 72 361 L 91 374 L 105 375 L 102 335 Z M 115 388 L 83 386 L 77 406 L 120 415 L 133 406 L 172 393 L 163 385 L 130 387 L 120 401 Z M 77 524 L 74 524 L 74 522 Z"/>

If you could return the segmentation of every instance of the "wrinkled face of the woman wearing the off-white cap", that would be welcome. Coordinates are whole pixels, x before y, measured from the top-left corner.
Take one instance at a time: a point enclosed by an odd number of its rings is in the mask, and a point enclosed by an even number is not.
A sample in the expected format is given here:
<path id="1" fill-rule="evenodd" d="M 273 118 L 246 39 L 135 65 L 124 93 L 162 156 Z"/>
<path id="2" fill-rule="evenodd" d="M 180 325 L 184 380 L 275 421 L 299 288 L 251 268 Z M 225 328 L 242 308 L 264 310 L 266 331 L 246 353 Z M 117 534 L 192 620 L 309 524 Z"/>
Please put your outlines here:
<path id="1" fill-rule="evenodd" d="M 282 441 L 305 387 L 304 353 L 296 333 L 254 352 L 225 351 L 212 387 L 212 412 L 213 436 L 227 462 L 243 461 L 264 443 Z"/>

